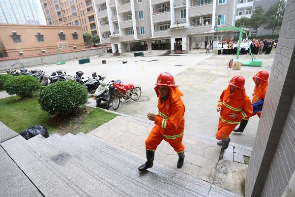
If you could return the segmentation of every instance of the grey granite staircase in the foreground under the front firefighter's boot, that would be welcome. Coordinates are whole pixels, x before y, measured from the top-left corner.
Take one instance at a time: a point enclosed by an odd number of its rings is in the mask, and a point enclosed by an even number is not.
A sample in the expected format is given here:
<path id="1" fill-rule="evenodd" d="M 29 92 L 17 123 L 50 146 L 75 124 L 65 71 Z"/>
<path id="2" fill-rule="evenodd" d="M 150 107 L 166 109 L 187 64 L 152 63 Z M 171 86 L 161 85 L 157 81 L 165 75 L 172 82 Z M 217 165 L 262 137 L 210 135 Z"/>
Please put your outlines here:
<path id="1" fill-rule="evenodd" d="M 145 158 L 92 134 L 19 135 L 0 145 L 45 197 L 238 197 L 164 165 L 140 173 Z"/>

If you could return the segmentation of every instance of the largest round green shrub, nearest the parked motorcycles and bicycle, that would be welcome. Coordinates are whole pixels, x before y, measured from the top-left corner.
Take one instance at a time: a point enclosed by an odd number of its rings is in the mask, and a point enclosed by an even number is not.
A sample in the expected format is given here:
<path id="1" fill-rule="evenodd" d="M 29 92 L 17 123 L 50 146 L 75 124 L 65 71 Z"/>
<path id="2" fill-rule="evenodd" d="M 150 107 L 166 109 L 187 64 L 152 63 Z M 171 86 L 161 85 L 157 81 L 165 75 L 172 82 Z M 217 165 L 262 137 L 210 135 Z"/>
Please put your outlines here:
<path id="1" fill-rule="evenodd" d="M 70 115 L 79 110 L 88 99 L 88 92 L 76 81 L 59 81 L 40 91 L 41 109 L 51 115 Z"/>

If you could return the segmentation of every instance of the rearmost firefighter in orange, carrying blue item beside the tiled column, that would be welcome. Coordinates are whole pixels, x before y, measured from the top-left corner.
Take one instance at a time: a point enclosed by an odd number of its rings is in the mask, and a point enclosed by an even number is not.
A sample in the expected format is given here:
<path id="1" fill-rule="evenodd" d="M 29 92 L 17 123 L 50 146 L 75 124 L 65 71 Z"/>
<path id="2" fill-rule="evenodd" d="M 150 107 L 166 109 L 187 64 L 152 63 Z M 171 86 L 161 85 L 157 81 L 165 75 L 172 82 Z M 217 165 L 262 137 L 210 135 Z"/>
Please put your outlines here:
<path id="1" fill-rule="evenodd" d="M 252 78 L 255 83 L 252 103 L 265 99 L 267 85 L 268 85 L 268 77 L 269 77 L 268 72 L 266 70 L 261 70 L 261 71 L 257 72 L 257 74 Z M 251 116 L 249 116 L 247 118 L 243 118 L 242 121 L 240 122 L 238 129 L 235 129 L 234 131 L 235 132 L 243 132 L 248 124 L 249 118 L 252 116 L 255 116 L 256 114 L 260 118 L 261 111 L 253 113 Z"/>

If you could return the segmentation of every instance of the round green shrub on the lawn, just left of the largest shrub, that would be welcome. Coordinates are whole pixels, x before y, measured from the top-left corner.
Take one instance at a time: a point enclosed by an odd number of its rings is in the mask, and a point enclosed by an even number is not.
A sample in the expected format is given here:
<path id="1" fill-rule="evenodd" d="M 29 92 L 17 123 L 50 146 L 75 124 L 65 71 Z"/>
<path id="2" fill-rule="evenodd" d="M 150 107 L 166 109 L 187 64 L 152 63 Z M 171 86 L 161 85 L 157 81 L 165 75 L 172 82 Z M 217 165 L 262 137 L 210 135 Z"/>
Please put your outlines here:
<path id="1" fill-rule="evenodd" d="M 32 97 L 33 93 L 41 88 L 41 84 L 38 79 L 32 76 L 20 75 L 8 77 L 4 87 L 9 95 L 17 95 L 23 99 L 25 97 Z"/>

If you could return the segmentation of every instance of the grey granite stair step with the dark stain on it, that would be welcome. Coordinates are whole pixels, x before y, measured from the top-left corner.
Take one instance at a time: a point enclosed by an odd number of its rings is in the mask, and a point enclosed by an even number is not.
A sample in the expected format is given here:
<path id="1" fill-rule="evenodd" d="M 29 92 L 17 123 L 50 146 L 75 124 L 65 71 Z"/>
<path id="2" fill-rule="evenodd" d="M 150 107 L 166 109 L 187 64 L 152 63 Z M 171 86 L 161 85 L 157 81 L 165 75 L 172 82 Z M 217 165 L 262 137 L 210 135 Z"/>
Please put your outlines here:
<path id="1" fill-rule="evenodd" d="M 56 136 L 55 136 L 56 137 Z M 54 136 L 48 140 L 52 140 Z M 71 155 L 65 149 L 49 143 L 45 138 L 39 138 L 28 142 L 28 145 L 36 151 L 40 157 L 44 158 L 49 165 L 56 168 L 60 174 L 84 191 L 83 196 L 112 196 L 128 197 L 124 191 L 113 187 L 103 177 L 95 176 L 89 169 L 76 159 L 76 155 Z M 82 161 L 82 163 L 88 161 Z"/>

